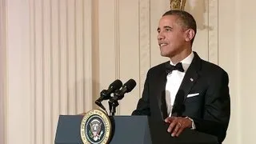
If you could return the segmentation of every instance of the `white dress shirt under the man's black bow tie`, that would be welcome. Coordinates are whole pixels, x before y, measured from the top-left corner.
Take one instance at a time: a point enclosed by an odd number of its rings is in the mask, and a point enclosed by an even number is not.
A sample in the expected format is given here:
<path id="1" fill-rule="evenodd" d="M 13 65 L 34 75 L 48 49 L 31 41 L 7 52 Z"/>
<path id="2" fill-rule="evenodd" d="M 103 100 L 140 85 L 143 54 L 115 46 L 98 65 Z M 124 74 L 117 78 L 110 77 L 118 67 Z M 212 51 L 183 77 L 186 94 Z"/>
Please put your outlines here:
<path id="1" fill-rule="evenodd" d="M 167 74 L 166 79 L 166 106 L 167 106 L 167 114 L 169 117 L 171 116 L 171 111 L 174 106 L 174 100 L 176 97 L 176 94 L 178 92 L 179 87 L 181 86 L 182 80 L 184 78 L 184 75 L 186 74 L 186 70 L 189 68 L 192 60 L 194 58 L 194 53 L 191 52 L 189 56 L 184 58 L 182 62 L 182 67 L 184 69 L 184 72 L 173 70 L 169 74 Z M 170 61 L 171 65 L 174 65 L 173 62 Z"/>

